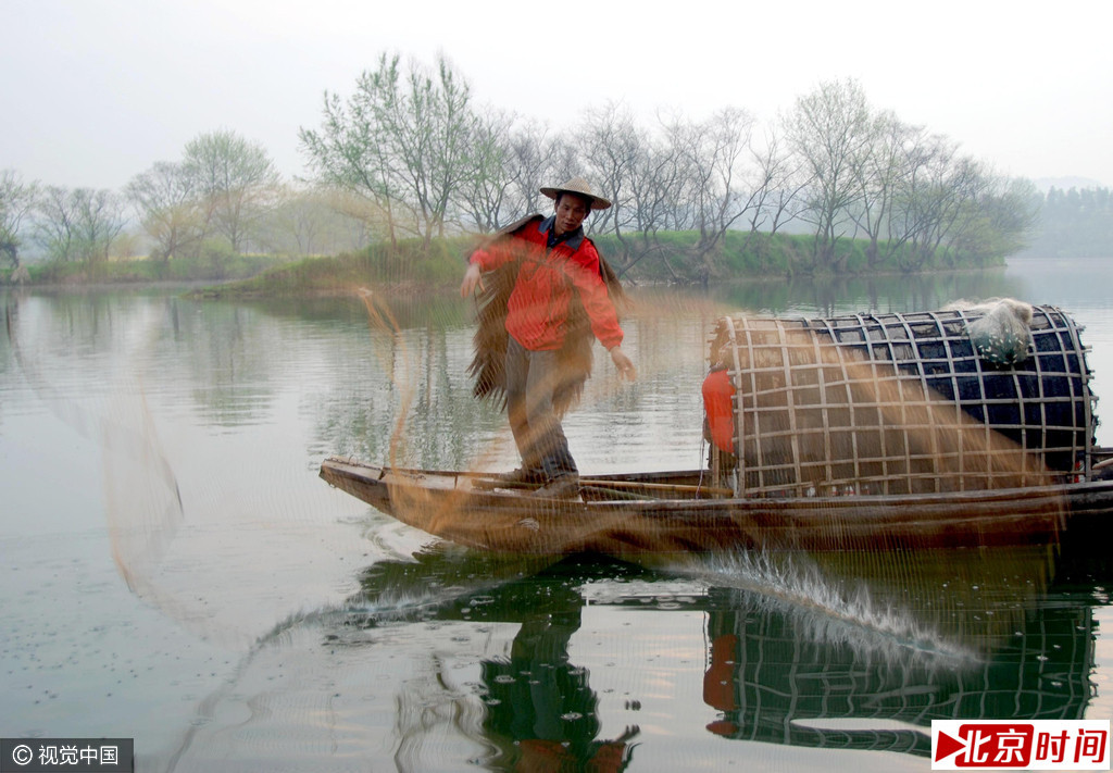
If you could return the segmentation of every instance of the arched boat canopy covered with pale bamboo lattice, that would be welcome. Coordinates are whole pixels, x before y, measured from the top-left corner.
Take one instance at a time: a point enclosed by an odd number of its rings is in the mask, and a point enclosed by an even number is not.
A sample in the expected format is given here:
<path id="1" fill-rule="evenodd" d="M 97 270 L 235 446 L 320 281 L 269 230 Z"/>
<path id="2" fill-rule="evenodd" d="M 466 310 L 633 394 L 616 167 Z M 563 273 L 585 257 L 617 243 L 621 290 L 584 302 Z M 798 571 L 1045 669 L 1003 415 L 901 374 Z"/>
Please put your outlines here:
<path id="1" fill-rule="evenodd" d="M 722 317 L 736 496 L 932 493 L 1089 476 L 1096 428 L 1081 327 L 1021 305 L 1015 362 L 972 337 L 989 306 Z M 999 344 L 996 339 L 991 344 Z"/>

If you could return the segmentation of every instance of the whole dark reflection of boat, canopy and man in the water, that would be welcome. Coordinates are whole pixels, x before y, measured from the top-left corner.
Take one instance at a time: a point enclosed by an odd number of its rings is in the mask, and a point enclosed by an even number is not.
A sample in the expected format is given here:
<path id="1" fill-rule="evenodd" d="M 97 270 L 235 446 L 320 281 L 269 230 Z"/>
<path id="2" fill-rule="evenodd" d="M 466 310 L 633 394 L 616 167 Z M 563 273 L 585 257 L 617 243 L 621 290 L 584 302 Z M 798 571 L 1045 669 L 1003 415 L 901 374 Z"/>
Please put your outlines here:
<path id="1" fill-rule="evenodd" d="M 508 571 L 472 552 L 431 552 L 371 567 L 361 604 L 435 580 L 464 593 L 427 609 L 431 619 L 520 626 L 509 648 L 481 658 L 472 685 L 483 703 L 473 740 L 487 750 L 474 762 L 493 770 L 623 770 L 654 754 L 662 740 L 637 723 L 600 732 L 592 675 L 570 644 L 589 605 L 666 610 L 654 599 L 678 577 L 686 601 L 676 608 L 698 610 L 706 626 L 708 732 L 926 756 L 932 720 L 1084 716 L 1094 586 L 1064 591 L 1054 558 L 1047 548 L 780 554 L 646 568 L 571 557 Z M 483 587 L 464 589 L 477 579 Z M 654 699 L 626 694 L 626 708 Z M 717 748 L 689 752 L 715 759 Z"/>

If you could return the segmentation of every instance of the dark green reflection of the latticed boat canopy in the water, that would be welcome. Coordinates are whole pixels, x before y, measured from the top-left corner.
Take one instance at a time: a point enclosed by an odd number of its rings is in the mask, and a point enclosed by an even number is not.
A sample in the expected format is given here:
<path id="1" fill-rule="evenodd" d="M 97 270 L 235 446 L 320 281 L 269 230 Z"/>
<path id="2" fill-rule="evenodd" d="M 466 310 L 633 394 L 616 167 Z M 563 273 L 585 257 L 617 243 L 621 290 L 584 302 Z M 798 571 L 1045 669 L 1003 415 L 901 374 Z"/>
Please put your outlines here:
<path id="1" fill-rule="evenodd" d="M 1064 604 L 1056 595 L 1048 603 L 1053 565 L 1041 554 L 940 552 L 861 565 L 853 559 L 863 556 L 843 556 L 843 576 L 860 580 L 848 587 L 868 594 L 857 601 L 864 617 L 710 588 L 703 697 L 720 715 L 708 730 L 928 755 L 933 720 L 1083 717 L 1093 599 Z M 893 723 L 905 727 L 884 726 Z"/>

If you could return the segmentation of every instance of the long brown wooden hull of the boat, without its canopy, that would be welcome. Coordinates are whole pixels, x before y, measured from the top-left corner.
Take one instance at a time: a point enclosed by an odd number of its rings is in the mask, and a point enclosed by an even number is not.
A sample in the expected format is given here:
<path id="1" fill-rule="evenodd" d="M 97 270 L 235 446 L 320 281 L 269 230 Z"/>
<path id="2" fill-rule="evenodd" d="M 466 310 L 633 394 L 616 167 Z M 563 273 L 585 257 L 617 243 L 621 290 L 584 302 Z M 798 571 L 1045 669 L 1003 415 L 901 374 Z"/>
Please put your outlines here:
<path id="1" fill-rule="evenodd" d="M 321 477 L 404 524 L 481 550 L 560 555 L 1082 545 L 1113 531 L 1113 480 L 922 495 L 735 498 L 700 471 L 582 479 L 582 501 L 491 474 L 329 458 Z M 703 473 L 706 477 L 706 473 Z M 726 495 L 726 496 L 725 496 Z"/>

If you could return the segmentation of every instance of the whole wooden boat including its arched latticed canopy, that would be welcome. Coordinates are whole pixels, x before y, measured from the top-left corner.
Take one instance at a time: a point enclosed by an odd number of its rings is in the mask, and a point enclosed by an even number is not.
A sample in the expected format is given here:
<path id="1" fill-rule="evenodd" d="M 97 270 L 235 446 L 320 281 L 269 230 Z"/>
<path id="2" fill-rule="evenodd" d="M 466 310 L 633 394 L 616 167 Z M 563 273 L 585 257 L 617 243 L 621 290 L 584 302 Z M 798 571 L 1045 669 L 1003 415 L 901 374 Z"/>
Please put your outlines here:
<path id="1" fill-rule="evenodd" d="M 737 389 L 732 459 L 708 470 L 581 480 L 577 500 L 492 473 L 333 457 L 321 477 L 431 535 L 559 555 L 982 548 L 1104 550 L 1113 450 L 1093 446 L 1096 398 L 1078 327 L 1033 307 L 1021 341 L 985 309 L 830 320 L 725 317 L 711 361 Z"/>

